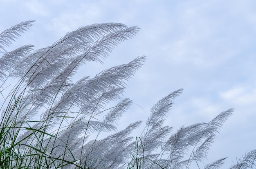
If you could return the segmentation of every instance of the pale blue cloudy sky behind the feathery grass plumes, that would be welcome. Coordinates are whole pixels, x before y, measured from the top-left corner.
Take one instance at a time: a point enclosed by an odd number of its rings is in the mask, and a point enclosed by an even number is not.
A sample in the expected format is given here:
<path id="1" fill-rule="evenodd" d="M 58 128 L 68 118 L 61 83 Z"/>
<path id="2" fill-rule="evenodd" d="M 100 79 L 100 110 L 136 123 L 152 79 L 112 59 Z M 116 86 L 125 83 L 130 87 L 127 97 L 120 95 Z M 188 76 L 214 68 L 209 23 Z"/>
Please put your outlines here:
<path id="1" fill-rule="evenodd" d="M 34 26 L 12 47 L 49 46 L 67 32 L 94 23 L 138 26 L 139 33 L 110 54 L 105 64 L 83 66 L 76 78 L 146 55 L 127 83 L 133 100 L 122 125 L 146 120 L 150 108 L 183 88 L 166 117 L 181 125 L 211 121 L 235 108 L 211 147 L 205 165 L 220 158 L 228 168 L 256 149 L 256 1 L 254 0 L 0 0 L 0 32 L 22 21 Z"/>

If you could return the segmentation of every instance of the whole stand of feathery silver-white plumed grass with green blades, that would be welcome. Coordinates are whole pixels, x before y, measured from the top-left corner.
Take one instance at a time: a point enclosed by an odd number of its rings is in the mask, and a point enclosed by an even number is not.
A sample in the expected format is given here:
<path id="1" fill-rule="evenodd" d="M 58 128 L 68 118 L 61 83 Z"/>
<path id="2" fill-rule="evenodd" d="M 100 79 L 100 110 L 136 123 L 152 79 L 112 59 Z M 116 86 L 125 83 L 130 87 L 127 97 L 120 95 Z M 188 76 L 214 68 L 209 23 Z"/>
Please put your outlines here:
<path id="1" fill-rule="evenodd" d="M 25 45 L 7 52 L 6 47 L 33 22 L 21 22 L 0 34 L 1 169 L 199 168 L 232 109 L 209 123 L 182 126 L 172 134 L 172 127 L 164 126 L 164 117 L 182 92 L 176 90 L 153 105 L 144 131 L 132 137 L 142 122 L 117 129 L 118 120 L 132 104 L 121 96 L 145 57 L 75 83 L 72 77 L 88 61 L 103 63 L 115 46 L 132 38 L 139 28 L 93 24 L 67 33 L 46 48 L 33 51 L 34 46 Z M 13 81 L 15 85 L 10 86 Z M 111 101 L 119 103 L 110 107 Z M 100 138 L 101 132 L 114 134 Z M 90 137 L 92 133 L 95 138 Z M 255 168 L 255 156 L 251 151 L 231 168 Z M 217 169 L 223 160 L 205 169 Z"/>

